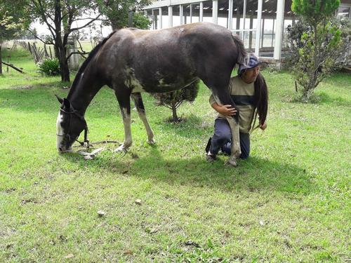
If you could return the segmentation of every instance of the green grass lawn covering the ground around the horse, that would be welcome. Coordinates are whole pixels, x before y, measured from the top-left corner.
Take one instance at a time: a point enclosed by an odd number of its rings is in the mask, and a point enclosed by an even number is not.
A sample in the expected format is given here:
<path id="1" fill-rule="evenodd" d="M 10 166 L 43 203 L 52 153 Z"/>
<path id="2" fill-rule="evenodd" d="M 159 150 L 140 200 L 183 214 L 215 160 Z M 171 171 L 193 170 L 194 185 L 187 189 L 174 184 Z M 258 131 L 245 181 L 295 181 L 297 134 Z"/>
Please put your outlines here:
<path id="1" fill-rule="evenodd" d="M 60 155 L 54 94 L 67 95 L 67 83 L 38 74 L 26 53 L 12 62 L 26 74 L 0 76 L 0 262 L 350 261 L 350 74 L 301 104 L 289 99 L 290 74 L 263 72 L 268 128 L 231 168 L 225 156 L 205 161 L 216 116 L 206 87 L 176 125 L 143 95 L 155 146 L 133 111 L 125 154 Z M 86 120 L 91 141 L 123 140 L 112 90 L 100 90 Z"/>

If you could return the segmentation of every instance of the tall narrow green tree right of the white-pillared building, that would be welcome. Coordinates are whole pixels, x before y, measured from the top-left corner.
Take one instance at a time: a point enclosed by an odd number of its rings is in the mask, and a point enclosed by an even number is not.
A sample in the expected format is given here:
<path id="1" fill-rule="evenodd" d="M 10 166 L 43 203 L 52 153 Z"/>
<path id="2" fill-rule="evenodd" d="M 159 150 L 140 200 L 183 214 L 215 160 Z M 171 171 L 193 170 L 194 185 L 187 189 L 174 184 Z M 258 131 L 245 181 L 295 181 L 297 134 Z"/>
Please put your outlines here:
<path id="1" fill-rule="evenodd" d="M 298 43 L 298 59 L 292 68 L 297 83 L 303 86 L 301 100 L 310 101 L 314 88 L 331 72 L 340 44 L 340 30 L 329 21 L 340 0 L 293 0 L 291 9 L 307 24 Z"/>

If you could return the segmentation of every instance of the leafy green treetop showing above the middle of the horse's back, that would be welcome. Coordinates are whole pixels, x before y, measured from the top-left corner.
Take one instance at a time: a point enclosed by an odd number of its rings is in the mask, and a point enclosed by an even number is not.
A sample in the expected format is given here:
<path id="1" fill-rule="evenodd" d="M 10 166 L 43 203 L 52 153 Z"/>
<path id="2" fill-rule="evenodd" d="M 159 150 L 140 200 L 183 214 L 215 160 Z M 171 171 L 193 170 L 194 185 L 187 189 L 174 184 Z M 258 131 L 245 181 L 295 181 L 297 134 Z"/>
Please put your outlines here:
<path id="1" fill-rule="evenodd" d="M 140 10 L 151 4 L 150 0 L 98 0 L 100 13 L 107 17 L 106 25 L 113 30 L 128 26 L 128 11 Z M 141 13 L 133 14 L 133 27 L 147 29 L 150 21 Z"/>

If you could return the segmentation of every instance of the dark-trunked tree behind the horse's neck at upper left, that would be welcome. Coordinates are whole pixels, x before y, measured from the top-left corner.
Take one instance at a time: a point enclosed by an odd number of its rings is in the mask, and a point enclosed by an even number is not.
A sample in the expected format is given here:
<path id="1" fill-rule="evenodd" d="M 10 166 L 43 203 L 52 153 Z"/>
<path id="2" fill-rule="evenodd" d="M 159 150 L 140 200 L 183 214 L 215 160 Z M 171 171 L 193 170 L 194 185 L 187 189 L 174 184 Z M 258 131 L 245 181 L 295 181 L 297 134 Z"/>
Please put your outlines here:
<path id="1" fill-rule="evenodd" d="M 50 31 L 46 39 L 36 36 L 37 39 L 53 44 L 55 56 L 60 62 L 61 81 L 69 81 L 67 43 L 69 35 L 79 29 L 88 27 L 95 20 L 99 20 L 101 14 L 95 14 L 97 4 L 90 0 L 27 0 L 29 10 L 34 18 L 39 18 Z M 74 27 L 74 22 L 85 20 L 84 25 Z M 78 52 L 84 54 L 83 52 Z"/>

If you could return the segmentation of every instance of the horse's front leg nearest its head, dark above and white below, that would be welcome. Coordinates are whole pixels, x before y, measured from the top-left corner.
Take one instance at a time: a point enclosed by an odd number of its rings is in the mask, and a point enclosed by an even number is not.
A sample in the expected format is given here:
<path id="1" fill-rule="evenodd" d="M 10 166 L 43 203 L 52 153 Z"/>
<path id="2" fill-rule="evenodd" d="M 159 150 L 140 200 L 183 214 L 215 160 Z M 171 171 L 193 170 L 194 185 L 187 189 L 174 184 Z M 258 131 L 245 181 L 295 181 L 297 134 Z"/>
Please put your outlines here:
<path id="1" fill-rule="evenodd" d="M 124 142 L 114 151 L 126 151 L 132 144 L 131 137 L 131 93 L 126 90 L 115 90 L 114 94 L 117 97 L 119 108 L 124 125 Z"/>

